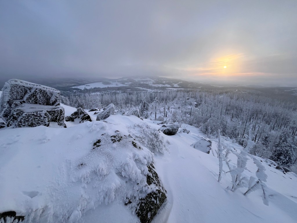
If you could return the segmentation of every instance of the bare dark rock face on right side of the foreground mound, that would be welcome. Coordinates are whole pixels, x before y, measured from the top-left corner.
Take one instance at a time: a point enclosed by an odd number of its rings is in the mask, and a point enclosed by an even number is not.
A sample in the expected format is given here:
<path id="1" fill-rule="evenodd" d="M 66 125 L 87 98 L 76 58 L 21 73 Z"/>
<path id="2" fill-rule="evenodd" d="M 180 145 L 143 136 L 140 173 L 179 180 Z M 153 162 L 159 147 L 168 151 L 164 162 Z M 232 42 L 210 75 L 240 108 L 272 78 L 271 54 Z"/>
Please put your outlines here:
<path id="1" fill-rule="evenodd" d="M 135 212 L 141 223 L 151 222 L 154 219 L 154 216 L 156 216 L 159 208 L 167 199 L 167 191 L 164 189 L 162 182 L 155 171 L 154 165 L 151 163 L 148 168 L 150 174 L 146 176 L 146 182 L 149 186 L 154 184 L 157 189 L 139 200 Z"/>

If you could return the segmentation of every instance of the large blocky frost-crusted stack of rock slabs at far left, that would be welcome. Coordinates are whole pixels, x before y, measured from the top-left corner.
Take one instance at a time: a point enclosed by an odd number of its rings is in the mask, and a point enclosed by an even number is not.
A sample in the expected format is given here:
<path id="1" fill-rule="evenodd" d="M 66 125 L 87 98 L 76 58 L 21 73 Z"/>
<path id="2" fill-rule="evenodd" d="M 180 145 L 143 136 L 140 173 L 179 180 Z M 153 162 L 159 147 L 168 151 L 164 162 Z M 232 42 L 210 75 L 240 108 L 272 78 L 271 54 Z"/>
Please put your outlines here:
<path id="1" fill-rule="evenodd" d="M 7 81 L 2 89 L 0 117 L 13 128 L 50 122 L 66 127 L 59 90 L 17 79 Z"/>

